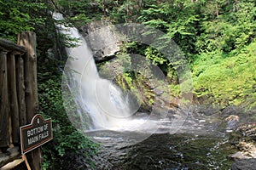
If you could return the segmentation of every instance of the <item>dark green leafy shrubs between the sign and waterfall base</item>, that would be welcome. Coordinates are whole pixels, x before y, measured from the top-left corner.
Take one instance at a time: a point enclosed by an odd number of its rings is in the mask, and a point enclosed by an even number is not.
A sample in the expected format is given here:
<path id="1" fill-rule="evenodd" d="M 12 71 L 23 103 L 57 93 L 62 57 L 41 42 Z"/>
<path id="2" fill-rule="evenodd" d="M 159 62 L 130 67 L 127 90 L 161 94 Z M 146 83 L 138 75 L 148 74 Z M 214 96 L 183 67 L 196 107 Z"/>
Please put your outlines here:
<path id="1" fill-rule="evenodd" d="M 54 139 L 45 144 L 43 150 L 45 169 L 54 167 L 55 164 L 59 164 L 60 169 L 66 169 L 68 162 L 64 157 L 71 153 L 84 156 L 84 160 L 93 167 L 90 159 L 96 155 L 97 144 L 79 133 L 69 121 L 63 106 L 60 78 L 40 82 L 38 92 L 40 113 L 53 119 Z"/>

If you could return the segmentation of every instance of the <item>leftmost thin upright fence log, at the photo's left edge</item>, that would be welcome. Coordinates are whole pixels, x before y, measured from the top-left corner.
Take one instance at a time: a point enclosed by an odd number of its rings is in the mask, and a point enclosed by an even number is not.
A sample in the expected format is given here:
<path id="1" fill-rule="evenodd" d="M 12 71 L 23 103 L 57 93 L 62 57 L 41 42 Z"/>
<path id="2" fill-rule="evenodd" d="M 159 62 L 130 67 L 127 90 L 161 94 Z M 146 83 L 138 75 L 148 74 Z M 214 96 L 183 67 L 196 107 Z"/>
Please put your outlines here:
<path id="1" fill-rule="evenodd" d="M 9 146 L 7 52 L 0 51 L 0 147 Z"/>

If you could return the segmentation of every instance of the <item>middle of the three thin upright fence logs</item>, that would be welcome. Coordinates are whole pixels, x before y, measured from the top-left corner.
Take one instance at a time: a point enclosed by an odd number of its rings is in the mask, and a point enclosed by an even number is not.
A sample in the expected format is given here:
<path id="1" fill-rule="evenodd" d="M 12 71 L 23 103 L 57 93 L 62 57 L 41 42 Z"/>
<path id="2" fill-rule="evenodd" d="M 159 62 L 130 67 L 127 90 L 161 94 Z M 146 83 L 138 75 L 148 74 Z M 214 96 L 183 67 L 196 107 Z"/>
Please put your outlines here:
<path id="1" fill-rule="evenodd" d="M 9 104 L 10 104 L 10 116 L 12 124 L 12 140 L 14 144 L 20 142 L 20 121 L 19 121 L 19 105 L 17 99 L 17 88 L 16 88 L 16 69 L 15 69 L 15 54 L 9 53 L 8 58 L 8 82 L 9 82 Z"/>

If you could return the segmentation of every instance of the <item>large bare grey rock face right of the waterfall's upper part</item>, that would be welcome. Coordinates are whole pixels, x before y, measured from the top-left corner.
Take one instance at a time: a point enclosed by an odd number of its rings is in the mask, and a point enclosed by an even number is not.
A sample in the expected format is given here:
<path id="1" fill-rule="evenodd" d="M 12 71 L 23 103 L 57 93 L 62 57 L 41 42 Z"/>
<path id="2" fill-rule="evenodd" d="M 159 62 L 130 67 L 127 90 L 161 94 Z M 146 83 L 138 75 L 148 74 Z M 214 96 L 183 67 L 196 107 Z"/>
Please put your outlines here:
<path id="1" fill-rule="evenodd" d="M 112 59 L 119 52 L 120 41 L 114 26 L 108 21 L 95 21 L 81 26 L 79 31 L 88 42 L 96 62 Z"/>

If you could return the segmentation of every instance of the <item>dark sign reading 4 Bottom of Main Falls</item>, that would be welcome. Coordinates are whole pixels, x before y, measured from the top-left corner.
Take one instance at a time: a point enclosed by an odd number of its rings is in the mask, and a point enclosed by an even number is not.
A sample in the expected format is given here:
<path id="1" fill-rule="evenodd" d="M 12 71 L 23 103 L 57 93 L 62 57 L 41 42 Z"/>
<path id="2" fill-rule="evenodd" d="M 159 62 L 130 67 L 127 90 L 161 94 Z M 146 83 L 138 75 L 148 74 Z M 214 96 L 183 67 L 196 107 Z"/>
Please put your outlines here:
<path id="1" fill-rule="evenodd" d="M 20 127 L 21 153 L 25 154 L 53 139 L 51 119 L 44 120 L 41 115 L 32 118 L 29 125 Z"/>

